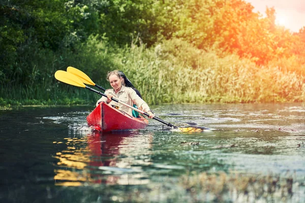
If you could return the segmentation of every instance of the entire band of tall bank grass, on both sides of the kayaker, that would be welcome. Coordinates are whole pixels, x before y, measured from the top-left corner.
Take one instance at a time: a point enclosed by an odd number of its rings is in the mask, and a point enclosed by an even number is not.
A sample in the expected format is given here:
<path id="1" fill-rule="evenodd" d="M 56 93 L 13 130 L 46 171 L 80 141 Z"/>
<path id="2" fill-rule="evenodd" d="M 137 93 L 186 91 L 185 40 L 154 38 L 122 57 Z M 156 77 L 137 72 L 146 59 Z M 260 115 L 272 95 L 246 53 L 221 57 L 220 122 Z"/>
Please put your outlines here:
<path id="1" fill-rule="evenodd" d="M 32 55 L 13 64 L 15 70 L 22 71 L 23 66 L 31 70 L 27 82 L 2 82 L 0 106 L 94 105 L 99 95 L 55 80 L 55 71 L 68 66 L 82 70 L 105 88 L 110 87 L 107 72 L 121 70 L 148 104 L 305 101 L 305 76 L 288 69 L 287 61 L 258 67 L 249 59 L 233 54 L 220 57 L 216 51 L 202 51 L 178 39 L 151 48 L 139 41 L 118 48 L 91 37 L 74 50 L 55 53 L 30 47 L 27 52 Z"/>

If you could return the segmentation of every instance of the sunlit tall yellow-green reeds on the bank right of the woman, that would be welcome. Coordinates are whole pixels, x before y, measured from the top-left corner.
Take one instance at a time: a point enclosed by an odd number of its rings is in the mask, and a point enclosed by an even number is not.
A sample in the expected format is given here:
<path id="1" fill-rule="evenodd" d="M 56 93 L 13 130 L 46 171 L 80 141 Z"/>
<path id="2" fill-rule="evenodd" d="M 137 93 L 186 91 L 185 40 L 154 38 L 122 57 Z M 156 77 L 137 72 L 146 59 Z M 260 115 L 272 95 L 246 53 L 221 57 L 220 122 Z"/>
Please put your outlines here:
<path id="1" fill-rule="evenodd" d="M 132 46 L 116 57 L 150 104 L 305 101 L 303 75 L 258 67 L 236 55 L 221 58 L 180 40 L 154 49 Z"/>

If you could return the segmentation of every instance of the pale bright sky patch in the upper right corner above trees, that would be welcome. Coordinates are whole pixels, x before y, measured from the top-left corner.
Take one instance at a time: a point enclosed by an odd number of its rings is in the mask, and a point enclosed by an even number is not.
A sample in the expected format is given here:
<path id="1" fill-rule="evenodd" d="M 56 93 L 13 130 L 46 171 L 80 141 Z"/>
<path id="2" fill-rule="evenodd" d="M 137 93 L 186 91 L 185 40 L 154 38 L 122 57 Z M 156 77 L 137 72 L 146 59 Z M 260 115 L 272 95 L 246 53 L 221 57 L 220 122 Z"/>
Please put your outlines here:
<path id="1" fill-rule="evenodd" d="M 276 10 L 276 23 L 298 32 L 305 26 L 305 0 L 244 0 L 254 7 L 254 12 L 265 16 L 266 7 Z"/>

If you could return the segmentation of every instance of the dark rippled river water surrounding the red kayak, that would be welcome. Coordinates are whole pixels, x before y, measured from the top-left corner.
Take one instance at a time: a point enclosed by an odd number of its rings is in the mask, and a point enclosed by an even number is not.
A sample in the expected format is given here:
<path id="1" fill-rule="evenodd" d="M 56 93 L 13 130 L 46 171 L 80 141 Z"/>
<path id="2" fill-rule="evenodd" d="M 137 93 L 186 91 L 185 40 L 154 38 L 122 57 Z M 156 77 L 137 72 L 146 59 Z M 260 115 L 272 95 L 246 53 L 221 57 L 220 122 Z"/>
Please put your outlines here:
<path id="1" fill-rule="evenodd" d="M 0 110 L 0 202 L 304 202 L 304 104 L 153 106 L 177 126 L 100 133 L 94 107 Z"/>

